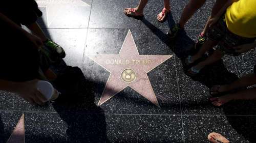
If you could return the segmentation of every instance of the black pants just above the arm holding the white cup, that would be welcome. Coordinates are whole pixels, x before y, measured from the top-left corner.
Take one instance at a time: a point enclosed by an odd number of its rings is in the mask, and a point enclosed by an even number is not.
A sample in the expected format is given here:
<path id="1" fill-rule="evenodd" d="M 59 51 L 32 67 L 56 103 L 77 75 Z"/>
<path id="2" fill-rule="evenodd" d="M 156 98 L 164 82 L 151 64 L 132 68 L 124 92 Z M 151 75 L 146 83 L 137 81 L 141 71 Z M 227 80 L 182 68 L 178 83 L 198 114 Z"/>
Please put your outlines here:
<path id="1" fill-rule="evenodd" d="M 24 35 L 3 26 L 0 24 L 0 79 L 35 79 L 39 68 L 38 49 Z"/>

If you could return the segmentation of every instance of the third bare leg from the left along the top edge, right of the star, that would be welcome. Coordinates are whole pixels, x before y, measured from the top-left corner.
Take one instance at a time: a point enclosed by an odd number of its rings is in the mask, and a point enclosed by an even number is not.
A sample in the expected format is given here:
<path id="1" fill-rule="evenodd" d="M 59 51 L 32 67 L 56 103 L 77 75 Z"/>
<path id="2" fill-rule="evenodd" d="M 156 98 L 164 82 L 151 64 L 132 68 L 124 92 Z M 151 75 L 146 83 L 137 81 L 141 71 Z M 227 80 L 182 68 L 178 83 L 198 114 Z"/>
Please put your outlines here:
<path id="1" fill-rule="evenodd" d="M 186 22 L 200 9 L 206 0 L 190 0 L 186 7 L 183 9 L 180 17 L 180 27 L 184 28 Z"/>

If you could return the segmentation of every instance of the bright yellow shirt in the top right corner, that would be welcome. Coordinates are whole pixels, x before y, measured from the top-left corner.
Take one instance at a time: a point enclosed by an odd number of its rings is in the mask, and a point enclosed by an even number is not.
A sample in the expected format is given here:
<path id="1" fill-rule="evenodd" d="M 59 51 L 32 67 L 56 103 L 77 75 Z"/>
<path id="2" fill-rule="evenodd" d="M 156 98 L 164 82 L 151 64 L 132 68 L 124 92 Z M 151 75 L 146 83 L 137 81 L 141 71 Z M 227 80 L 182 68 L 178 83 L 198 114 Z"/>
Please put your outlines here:
<path id="1" fill-rule="evenodd" d="M 256 37 L 256 0 L 239 0 L 227 8 L 227 28 L 233 34 L 246 38 Z"/>

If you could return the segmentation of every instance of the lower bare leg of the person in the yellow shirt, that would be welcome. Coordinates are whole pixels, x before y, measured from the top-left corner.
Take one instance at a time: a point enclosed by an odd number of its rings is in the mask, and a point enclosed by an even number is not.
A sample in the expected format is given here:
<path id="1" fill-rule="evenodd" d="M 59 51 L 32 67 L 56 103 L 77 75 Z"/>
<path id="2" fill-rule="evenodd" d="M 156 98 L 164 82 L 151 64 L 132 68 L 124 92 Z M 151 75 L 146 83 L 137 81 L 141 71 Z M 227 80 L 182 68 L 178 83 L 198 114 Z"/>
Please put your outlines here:
<path id="1" fill-rule="evenodd" d="M 196 66 L 194 66 L 195 69 L 201 70 L 207 65 L 210 65 L 212 63 L 215 63 L 222 58 L 222 52 L 219 50 L 216 50 L 214 53 L 212 53 L 205 61 L 198 63 Z"/>

